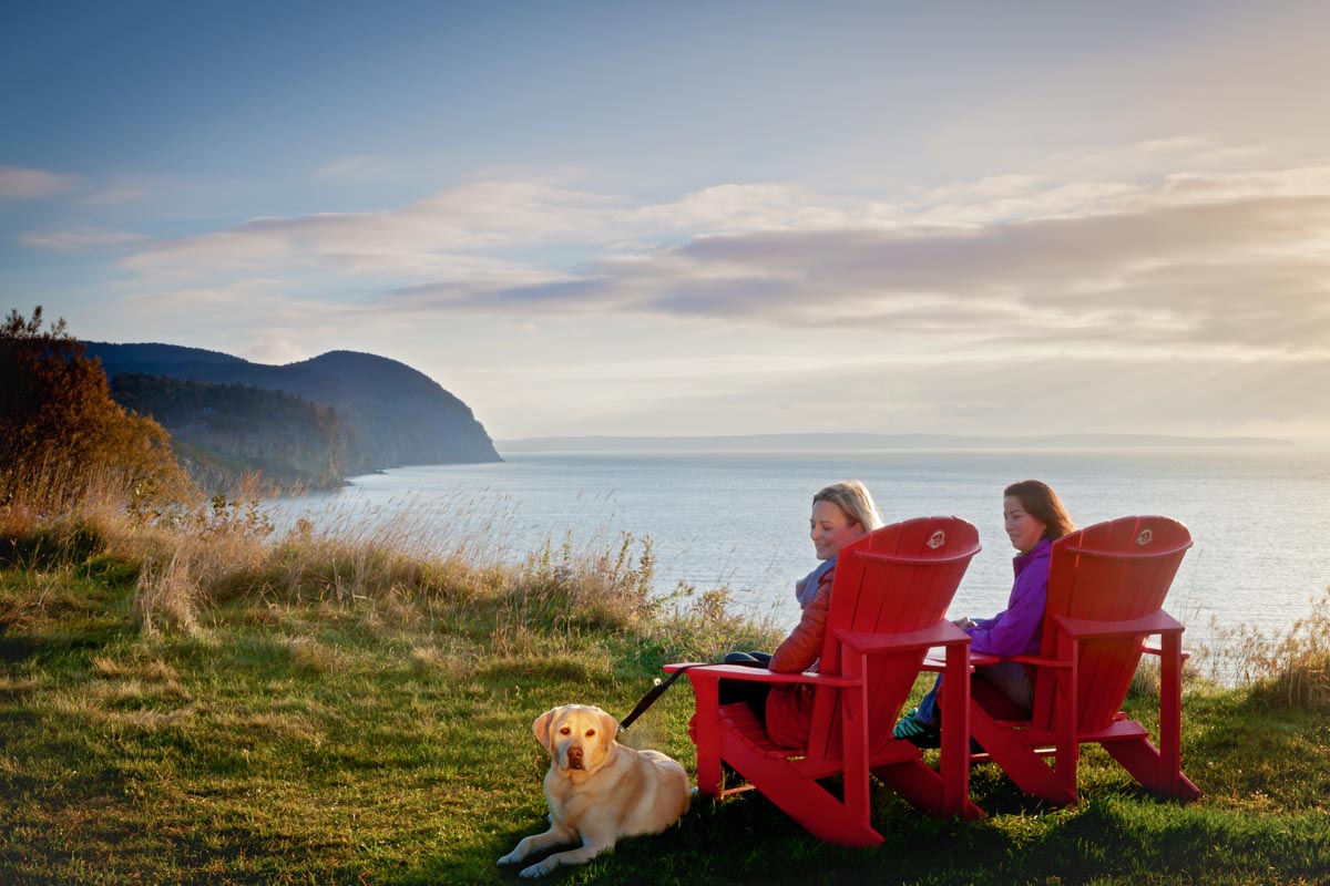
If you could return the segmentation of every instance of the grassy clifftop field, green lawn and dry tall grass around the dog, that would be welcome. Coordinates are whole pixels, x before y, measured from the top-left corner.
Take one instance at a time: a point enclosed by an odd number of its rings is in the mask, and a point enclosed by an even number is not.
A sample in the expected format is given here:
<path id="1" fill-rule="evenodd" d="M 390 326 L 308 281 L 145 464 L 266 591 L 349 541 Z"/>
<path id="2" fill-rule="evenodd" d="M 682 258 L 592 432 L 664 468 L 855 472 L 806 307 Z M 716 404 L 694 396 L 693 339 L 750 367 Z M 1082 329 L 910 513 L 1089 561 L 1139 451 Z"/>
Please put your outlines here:
<path id="1" fill-rule="evenodd" d="M 309 526 L 277 539 L 225 503 L 157 534 L 15 514 L 0 530 L 4 883 L 513 882 L 495 861 L 544 829 L 537 715 L 622 716 L 662 663 L 773 640 L 722 591 L 649 598 L 649 545 L 626 538 L 499 567 Z M 1089 751 L 1072 809 L 978 766 L 988 820 L 928 818 L 879 786 L 887 842 L 862 851 L 755 793 L 700 800 L 551 879 L 1330 882 L 1330 713 L 1310 662 L 1188 684 L 1185 768 L 1205 792 L 1189 806 Z M 1148 692 L 1130 704 L 1150 723 Z M 626 741 L 692 770 L 690 713 L 684 681 Z"/>

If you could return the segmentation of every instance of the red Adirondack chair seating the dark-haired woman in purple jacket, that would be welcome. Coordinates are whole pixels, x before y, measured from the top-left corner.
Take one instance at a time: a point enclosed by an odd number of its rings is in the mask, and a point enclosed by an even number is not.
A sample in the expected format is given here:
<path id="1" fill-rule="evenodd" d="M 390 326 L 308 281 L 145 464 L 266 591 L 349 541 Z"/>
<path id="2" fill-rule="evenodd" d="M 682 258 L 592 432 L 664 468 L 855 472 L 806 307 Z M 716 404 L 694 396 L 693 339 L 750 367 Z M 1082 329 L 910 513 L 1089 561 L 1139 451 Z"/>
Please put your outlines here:
<path id="1" fill-rule="evenodd" d="M 1053 542 L 1040 652 L 1011 659 L 1035 669 L 1032 712 L 982 677 L 971 687 L 971 733 L 1021 790 L 1076 802 L 1080 745 L 1095 741 L 1150 790 L 1200 797 L 1181 769 L 1184 628 L 1161 608 L 1190 546 L 1186 526 L 1166 517 L 1123 517 Z M 1149 635 L 1160 647 L 1145 644 Z M 1157 748 L 1121 712 L 1142 652 L 1160 656 Z"/>

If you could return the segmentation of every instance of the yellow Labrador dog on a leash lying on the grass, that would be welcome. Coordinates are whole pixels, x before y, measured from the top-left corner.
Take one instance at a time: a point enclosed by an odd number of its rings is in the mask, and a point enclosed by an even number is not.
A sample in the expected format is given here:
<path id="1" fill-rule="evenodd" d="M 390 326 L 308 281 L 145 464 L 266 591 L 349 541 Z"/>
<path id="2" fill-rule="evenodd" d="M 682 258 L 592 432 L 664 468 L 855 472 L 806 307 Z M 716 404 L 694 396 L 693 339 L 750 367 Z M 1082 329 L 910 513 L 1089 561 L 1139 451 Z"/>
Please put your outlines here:
<path id="1" fill-rule="evenodd" d="M 620 837 L 658 834 L 688 812 L 688 774 L 658 751 L 633 751 L 614 740 L 618 723 L 600 708 L 569 704 L 547 711 L 532 724 L 549 752 L 545 801 L 549 830 L 523 838 L 499 859 L 516 865 L 552 846 L 581 846 L 555 853 L 523 877 L 543 877 L 560 865 L 585 865 L 614 847 Z"/>

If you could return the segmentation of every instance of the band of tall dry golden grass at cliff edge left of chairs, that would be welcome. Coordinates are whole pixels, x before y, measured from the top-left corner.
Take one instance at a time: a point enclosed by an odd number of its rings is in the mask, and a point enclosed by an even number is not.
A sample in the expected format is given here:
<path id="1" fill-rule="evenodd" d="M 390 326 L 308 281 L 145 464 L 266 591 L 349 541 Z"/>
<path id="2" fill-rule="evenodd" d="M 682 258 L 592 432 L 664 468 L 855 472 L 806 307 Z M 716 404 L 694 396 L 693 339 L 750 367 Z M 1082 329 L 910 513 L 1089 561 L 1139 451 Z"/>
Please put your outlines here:
<path id="1" fill-rule="evenodd" d="M 654 594 L 649 538 L 596 533 L 573 543 L 569 535 L 515 557 L 521 539 L 511 515 L 463 495 L 398 502 L 383 513 L 332 497 L 318 513 L 274 518 L 271 490 L 257 478 L 230 495 L 172 507 L 137 506 L 133 490 L 110 474 L 78 494 L 61 482 L 48 473 L 31 494 L 0 505 L 0 562 L 132 562 L 132 610 L 149 638 L 205 632 L 231 603 L 356 610 L 391 623 L 487 607 L 487 643 L 500 658 L 557 654 L 604 635 L 638 638 L 644 655 L 672 648 L 712 656 L 769 644 L 774 634 L 737 615 L 724 588 Z M 684 636 L 692 639 L 678 643 Z"/>

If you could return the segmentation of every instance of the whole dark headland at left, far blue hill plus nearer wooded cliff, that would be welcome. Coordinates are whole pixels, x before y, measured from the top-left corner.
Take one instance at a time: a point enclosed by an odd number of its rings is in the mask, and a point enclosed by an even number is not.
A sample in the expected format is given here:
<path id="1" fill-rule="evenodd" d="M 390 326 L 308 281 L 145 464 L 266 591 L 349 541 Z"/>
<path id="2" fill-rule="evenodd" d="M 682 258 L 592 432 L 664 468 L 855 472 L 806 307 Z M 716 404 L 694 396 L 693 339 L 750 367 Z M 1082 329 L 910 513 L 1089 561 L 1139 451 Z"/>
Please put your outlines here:
<path id="1" fill-rule="evenodd" d="M 387 357 L 331 351 L 266 365 L 173 344 L 85 348 L 117 402 L 166 428 L 205 485 L 258 470 L 326 487 L 400 465 L 501 461 L 467 404 Z"/>

